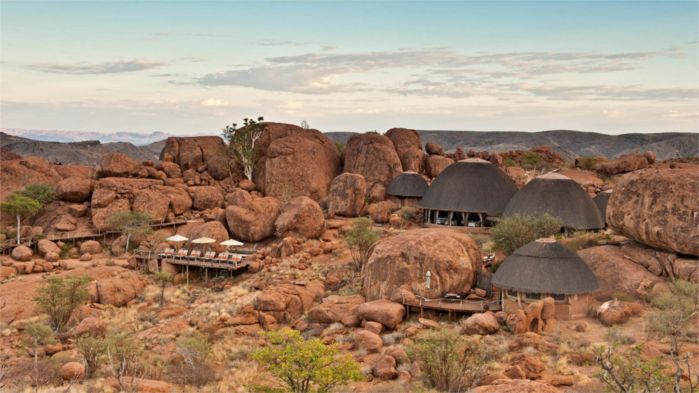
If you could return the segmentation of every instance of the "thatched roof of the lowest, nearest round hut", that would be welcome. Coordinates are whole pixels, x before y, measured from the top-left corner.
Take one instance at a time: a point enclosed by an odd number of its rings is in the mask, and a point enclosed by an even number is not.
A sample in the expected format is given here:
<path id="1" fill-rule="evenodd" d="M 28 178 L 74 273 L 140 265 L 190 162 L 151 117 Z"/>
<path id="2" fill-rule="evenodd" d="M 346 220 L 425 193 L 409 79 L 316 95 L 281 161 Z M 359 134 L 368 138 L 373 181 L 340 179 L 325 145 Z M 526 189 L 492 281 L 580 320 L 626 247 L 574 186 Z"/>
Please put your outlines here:
<path id="1" fill-rule="evenodd" d="M 500 265 L 491 282 L 509 290 L 565 295 L 600 289 L 584 260 L 554 239 L 521 246 Z"/>

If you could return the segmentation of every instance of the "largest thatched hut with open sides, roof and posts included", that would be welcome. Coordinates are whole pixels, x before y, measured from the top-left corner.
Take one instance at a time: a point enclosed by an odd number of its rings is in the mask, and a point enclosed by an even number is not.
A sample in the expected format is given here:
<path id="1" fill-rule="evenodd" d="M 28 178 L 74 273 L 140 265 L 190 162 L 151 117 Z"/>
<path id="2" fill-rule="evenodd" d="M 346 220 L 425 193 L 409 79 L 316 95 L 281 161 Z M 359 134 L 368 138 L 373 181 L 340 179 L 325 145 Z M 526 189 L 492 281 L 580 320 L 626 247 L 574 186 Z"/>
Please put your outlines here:
<path id="1" fill-rule="evenodd" d="M 503 212 L 515 193 L 514 181 L 500 168 L 480 158 L 467 158 L 442 170 L 420 207 L 425 223 L 484 226 Z"/>

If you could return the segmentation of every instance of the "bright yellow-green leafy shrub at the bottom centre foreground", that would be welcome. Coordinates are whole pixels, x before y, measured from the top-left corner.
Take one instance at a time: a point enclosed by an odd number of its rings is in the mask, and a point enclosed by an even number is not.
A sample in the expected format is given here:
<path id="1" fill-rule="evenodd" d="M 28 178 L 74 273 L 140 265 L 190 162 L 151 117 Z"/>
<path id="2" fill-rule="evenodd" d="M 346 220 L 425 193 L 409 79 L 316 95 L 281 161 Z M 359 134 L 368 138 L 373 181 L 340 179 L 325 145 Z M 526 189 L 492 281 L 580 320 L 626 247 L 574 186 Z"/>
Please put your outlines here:
<path id="1" fill-rule="evenodd" d="M 336 345 L 319 339 L 305 340 L 298 330 L 273 330 L 262 334 L 269 345 L 252 358 L 273 376 L 271 385 L 247 385 L 255 392 L 331 392 L 350 380 L 360 380 L 359 365 L 350 355 L 339 355 Z"/>

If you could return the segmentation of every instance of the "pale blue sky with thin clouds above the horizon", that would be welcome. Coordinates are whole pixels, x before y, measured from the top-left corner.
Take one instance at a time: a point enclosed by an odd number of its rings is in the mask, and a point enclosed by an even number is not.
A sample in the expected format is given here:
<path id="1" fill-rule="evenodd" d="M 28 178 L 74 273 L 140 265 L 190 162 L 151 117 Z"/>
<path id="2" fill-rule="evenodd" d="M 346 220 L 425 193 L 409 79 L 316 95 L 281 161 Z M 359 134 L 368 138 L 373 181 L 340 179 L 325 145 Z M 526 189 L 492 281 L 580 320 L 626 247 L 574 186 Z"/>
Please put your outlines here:
<path id="1" fill-rule="evenodd" d="M 0 2 L 0 126 L 699 131 L 698 1 Z"/>

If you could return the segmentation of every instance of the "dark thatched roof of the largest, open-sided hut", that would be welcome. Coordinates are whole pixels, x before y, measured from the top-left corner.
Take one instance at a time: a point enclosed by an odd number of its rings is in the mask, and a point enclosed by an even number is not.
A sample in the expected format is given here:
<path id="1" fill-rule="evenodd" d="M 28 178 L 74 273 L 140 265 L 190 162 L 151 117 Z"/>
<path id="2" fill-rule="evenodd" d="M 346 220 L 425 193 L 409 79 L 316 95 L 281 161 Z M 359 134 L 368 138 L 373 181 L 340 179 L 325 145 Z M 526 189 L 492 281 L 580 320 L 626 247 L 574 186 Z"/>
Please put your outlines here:
<path id="1" fill-rule="evenodd" d="M 502 213 L 517 186 L 492 163 L 470 158 L 449 165 L 432 181 L 420 207 L 454 212 Z"/>

